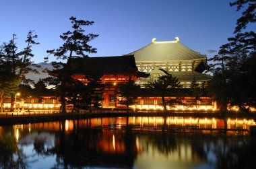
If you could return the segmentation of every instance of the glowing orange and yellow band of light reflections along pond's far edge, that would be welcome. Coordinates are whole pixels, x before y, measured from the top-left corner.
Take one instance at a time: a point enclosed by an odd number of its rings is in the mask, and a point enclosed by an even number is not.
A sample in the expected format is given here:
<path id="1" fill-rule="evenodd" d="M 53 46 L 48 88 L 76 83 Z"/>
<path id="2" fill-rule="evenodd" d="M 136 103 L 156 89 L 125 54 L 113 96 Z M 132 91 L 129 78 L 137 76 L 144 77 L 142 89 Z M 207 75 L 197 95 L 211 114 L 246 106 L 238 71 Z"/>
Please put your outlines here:
<path id="1" fill-rule="evenodd" d="M 16 139 L 20 139 L 22 133 L 32 133 L 33 131 L 65 131 L 69 133 L 75 129 L 102 129 L 104 126 L 116 125 L 117 129 L 121 129 L 123 125 L 163 125 L 164 117 L 162 116 L 140 116 L 140 117 L 113 117 L 113 118 L 94 118 L 94 119 L 81 119 L 81 120 L 65 120 L 46 123 L 33 123 L 28 125 L 15 125 L 13 131 L 15 132 Z M 247 129 L 249 126 L 255 124 L 253 119 L 226 119 L 227 129 Z M 183 116 L 170 116 L 166 118 L 166 125 L 177 126 L 198 126 L 199 128 L 207 129 L 224 129 L 224 119 L 215 118 L 194 118 Z M 120 127 L 119 127 L 120 126 Z M 115 131 L 115 130 L 114 130 Z M 113 131 L 113 132 L 114 132 Z M 4 133 L 4 127 L 0 127 L 0 133 Z M 18 134 L 16 134 L 18 132 Z M 103 133 L 108 133 L 104 132 Z M 113 147 L 113 139 L 118 137 L 116 133 L 110 133 L 107 137 L 109 142 L 108 147 Z M 115 135 L 113 137 L 113 135 Z M 114 139 L 114 140 L 115 140 Z M 115 141 L 114 141 L 115 142 Z M 116 142 L 115 142 L 116 143 Z M 111 146 L 110 146 L 111 145 Z M 122 146 L 120 146 L 122 147 Z"/>

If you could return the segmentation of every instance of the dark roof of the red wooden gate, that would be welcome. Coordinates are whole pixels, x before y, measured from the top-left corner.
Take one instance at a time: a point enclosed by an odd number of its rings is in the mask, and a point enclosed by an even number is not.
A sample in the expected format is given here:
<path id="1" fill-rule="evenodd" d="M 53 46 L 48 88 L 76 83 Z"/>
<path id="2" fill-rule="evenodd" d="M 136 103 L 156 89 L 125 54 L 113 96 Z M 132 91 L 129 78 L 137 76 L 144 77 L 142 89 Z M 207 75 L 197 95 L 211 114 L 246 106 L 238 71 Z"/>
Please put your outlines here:
<path id="1" fill-rule="evenodd" d="M 84 74 L 87 72 L 97 71 L 102 74 L 127 74 L 136 73 L 140 77 L 146 73 L 137 70 L 133 55 L 117 57 L 72 57 L 67 62 L 65 69 L 73 74 Z M 58 73 L 53 70 L 50 73 Z M 148 77 L 148 75 L 146 75 Z"/>

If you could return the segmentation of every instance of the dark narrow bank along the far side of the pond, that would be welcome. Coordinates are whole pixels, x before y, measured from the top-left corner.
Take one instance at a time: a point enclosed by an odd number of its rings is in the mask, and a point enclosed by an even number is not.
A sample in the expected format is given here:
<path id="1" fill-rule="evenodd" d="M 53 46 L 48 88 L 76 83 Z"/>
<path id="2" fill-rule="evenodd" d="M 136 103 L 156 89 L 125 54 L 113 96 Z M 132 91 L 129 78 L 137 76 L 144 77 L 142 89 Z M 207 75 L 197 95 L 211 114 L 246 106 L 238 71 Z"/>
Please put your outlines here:
<path id="1" fill-rule="evenodd" d="M 20 114 L 20 115 L 4 115 L 0 117 L 0 125 L 18 125 L 28 123 L 42 123 L 51 121 L 90 119 L 102 117 L 126 117 L 126 116 L 184 116 L 184 117 L 198 117 L 198 118 L 245 118 L 253 119 L 250 114 L 243 112 L 84 112 L 84 113 L 53 113 L 53 114 Z"/>

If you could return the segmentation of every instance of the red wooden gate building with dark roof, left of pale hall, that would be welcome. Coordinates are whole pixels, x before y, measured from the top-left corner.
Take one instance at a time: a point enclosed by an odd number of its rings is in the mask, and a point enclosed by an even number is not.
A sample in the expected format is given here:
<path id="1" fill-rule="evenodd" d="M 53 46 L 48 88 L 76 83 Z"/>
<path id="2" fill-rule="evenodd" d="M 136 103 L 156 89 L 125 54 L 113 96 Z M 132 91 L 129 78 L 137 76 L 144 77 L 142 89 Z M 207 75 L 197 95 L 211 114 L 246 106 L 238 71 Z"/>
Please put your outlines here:
<path id="1" fill-rule="evenodd" d="M 83 83 L 88 83 L 87 73 L 99 73 L 104 85 L 102 94 L 103 107 L 119 107 L 115 99 L 115 89 L 119 83 L 124 83 L 131 77 L 133 80 L 139 80 L 143 77 L 148 77 L 148 74 L 138 71 L 133 55 L 119 57 L 73 57 L 67 63 L 69 71 L 72 72 L 72 77 Z M 58 71 L 51 71 L 51 75 L 57 77 Z M 86 75 L 87 74 L 87 75 Z"/>

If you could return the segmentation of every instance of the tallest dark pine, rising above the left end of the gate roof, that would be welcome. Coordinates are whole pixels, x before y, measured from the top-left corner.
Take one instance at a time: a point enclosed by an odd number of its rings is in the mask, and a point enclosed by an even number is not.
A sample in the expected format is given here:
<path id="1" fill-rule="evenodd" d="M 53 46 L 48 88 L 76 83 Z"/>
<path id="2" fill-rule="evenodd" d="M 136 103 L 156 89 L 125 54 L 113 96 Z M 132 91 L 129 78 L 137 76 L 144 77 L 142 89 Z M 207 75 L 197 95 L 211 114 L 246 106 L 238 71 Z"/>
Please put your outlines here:
<path id="1" fill-rule="evenodd" d="M 60 37 L 64 41 L 63 45 L 57 48 L 56 50 L 47 50 L 49 54 L 53 54 L 57 59 L 63 59 L 69 63 L 69 60 L 72 59 L 73 55 L 78 55 L 78 57 L 88 57 L 86 53 L 96 53 L 96 48 L 92 48 L 88 44 L 91 40 L 98 37 L 97 34 L 84 34 L 85 30 L 82 29 L 84 26 L 90 26 L 94 22 L 86 20 L 77 20 L 74 17 L 69 18 L 72 24 L 72 32 L 67 31 L 63 33 Z M 48 57 L 44 58 L 48 61 Z M 60 92 L 60 102 L 61 102 L 61 112 L 65 113 L 65 90 L 67 87 L 67 81 L 71 77 L 69 70 L 65 69 L 67 63 L 62 62 L 52 62 L 52 65 L 55 69 L 60 69 L 57 80 L 59 81 L 58 88 Z M 56 82 L 56 81 L 55 81 Z"/>

